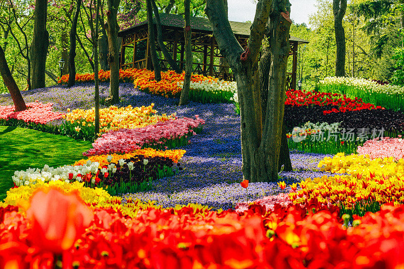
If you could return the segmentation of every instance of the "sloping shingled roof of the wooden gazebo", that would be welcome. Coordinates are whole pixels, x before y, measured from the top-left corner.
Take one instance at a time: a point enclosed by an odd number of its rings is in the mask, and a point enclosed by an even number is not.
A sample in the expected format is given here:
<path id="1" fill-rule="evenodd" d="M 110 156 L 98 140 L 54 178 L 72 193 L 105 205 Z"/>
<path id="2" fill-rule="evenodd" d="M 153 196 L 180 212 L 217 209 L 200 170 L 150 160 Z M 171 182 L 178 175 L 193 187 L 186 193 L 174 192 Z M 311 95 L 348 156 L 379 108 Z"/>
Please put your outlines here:
<path id="1" fill-rule="evenodd" d="M 181 28 L 181 29 L 184 27 L 184 18 L 182 17 L 182 15 L 161 13 L 160 21 L 161 21 L 162 25 L 167 26 L 167 27 Z M 155 17 L 153 17 L 153 22 L 156 24 Z M 147 24 L 147 20 L 142 21 L 138 24 L 135 24 L 134 26 L 132 26 L 130 28 L 120 31 L 118 33 L 118 36 L 124 36 L 128 33 L 136 31 L 136 28 L 141 27 L 146 24 Z M 230 21 L 230 26 L 235 35 L 249 37 L 251 23 Z M 207 32 L 207 33 L 213 32 L 212 27 L 209 23 L 209 20 L 206 18 L 201 18 L 201 17 L 191 17 L 191 29 L 199 30 L 199 31 Z M 297 41 L 298 44 L 309 43 L 308 40 L 304 40 L 304 39 L 294 37 L 294 36 L 290 36 L 289 40 Z"/>

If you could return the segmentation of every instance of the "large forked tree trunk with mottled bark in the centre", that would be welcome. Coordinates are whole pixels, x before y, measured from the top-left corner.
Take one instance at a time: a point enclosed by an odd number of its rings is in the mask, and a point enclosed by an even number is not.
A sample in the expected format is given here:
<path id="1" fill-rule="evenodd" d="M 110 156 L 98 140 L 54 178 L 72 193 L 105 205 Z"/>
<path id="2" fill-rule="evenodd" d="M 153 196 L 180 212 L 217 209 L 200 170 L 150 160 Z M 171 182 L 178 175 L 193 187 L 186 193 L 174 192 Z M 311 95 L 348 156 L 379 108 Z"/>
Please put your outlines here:
<path id="1" fill-rule="evenodd" d="M 221 54 L 233 69 L 241 114 L 241 153 L 243 178 L 251 182 L 276 181 L 281 144 L 282 119 L 289 55 L 288 0 L 260 0 L 248 42 L 243 52 L 226 17 L 226 0 L 208 0 L 206 14 Z M 273 5 L 273 6 L 272 6 Z M 262 124 L 258 56 L 270 10 L 271 69 L 266 118 Z"/>

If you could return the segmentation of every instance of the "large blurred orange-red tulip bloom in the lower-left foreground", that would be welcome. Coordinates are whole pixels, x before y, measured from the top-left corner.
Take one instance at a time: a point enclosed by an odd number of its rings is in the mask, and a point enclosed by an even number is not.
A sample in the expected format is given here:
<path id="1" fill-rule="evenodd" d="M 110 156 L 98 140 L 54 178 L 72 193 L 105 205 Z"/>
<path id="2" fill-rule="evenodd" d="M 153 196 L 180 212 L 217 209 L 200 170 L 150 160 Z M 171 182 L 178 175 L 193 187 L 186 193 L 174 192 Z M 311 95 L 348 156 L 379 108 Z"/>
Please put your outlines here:
<path id="1" fill-rule="evenodd" d="M 61 253 L 69 249 L 93 219 L 79 194 L 42 190 L 31 198 L 27 217 L 32 220 L 31 241 L 42 249 Z"/>

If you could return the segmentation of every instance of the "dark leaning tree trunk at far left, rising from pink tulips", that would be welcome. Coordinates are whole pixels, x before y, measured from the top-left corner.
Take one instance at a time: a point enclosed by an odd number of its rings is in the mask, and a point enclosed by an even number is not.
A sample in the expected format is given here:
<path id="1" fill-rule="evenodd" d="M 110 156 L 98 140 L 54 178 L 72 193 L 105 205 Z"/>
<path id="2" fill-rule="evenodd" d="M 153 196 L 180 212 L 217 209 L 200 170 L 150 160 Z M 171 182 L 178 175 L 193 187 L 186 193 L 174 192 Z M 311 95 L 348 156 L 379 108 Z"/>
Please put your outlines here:
<path id="1" fill-rule="evenodd" d="M 0 46 L 0 75 L 2 75 L 4 84 L 10 91 L 11 98 L 13 99 L 16 111 L 23 111 L 27 109 L 25 101 L 22 98 L 20 89 L 17 86 L 16 81 L 11 75 L 9 65 L 6 61 L 6 55 L 3 48 Z"/>

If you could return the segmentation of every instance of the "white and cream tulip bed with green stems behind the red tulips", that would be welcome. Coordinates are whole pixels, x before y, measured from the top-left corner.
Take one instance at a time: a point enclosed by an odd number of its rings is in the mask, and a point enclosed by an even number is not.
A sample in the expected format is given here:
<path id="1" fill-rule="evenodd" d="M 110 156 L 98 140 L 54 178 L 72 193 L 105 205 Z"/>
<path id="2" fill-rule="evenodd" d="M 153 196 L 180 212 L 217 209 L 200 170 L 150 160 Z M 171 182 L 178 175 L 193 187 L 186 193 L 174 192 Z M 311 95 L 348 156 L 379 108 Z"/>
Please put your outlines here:
<path id="1" fill-rule="evenodd" d="M 404 87 L 377 81 L 349 77 L 327 77 L 316 85 L 316 91 L 341 93 L 351 98 L 362 98 L 366 102 L 395 111 L 404 109 Z"/>

